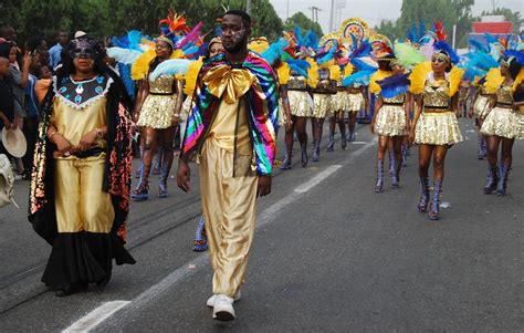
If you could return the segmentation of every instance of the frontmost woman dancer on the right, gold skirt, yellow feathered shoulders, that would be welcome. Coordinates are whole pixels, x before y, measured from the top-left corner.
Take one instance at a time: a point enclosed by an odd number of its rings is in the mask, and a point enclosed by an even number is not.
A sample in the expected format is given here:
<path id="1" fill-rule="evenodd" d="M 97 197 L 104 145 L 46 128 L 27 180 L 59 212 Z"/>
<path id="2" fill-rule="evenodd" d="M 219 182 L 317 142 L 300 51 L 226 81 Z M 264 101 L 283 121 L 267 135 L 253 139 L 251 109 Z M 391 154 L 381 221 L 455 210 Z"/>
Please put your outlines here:
<path id="1" fill-rule="evenodd" d="M 440 195 L 444 177 L 448 149 L 462 142 L 458 116 L 458 90 L 462 71 L 453 66 L 450 54 L 437 49 L 431 58 L 431 70 L 421 80 L 412 80 L 417 94 L 415 116 L 410 128 L 410 142 L 419 145 L 419 177 L 421 195 L 420 212 L 428 211 L 429 219 L 440 219 Z M 413 84 L 415 82 L 415 84 Z M 430 200 L 430 164 L 433 164 L 433 196 Z"/>

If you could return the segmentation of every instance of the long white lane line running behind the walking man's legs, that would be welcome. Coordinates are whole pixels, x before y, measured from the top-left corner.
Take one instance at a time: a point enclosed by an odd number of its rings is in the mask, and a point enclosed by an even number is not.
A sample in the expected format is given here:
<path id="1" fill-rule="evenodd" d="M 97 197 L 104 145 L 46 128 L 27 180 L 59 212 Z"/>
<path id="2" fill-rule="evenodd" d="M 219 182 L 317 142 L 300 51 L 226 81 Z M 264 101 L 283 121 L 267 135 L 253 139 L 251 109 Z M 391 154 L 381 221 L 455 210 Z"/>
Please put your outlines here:
<path id="1" fill-rule="evenodd" d="M 365 146 L 361 146 L 360 148 L 355 150 L 349 156 L 349 158 L 345 159 L 342 164 L 332 165 L 327 167 L 327 169 L 316 175 L 313 179 L 310 179 L 305 184 L 295 188 L 293 192 L 291 192 L 289 196 L 285 196 L 284 198 L 268 207 L 259 215 L 256 228 L 260 228 L 271 221 L 274 221 L 280 210 L 289 206 L 290 204 L 296 201 L 302 196 L 302 194 L 311 190 L 313 187 L 315 187 L 316 185 L 325 180 L 327 177 L 336 173 L 343 166 L 352 163 L 355 158 L 364 154 L 367 149 L 375 146 L 376 143 L 377 138 L 375 137 L 371 142 L 365 143 Z M 202 253 L 193 260 L 187 262 L 186 264 L 182 264 L 179 269 L 169 273 L 169 275 L 160 280 L 160 282 L 151 285 L 149 289 L 145 290 L 143 293 L 134 298 L 132 301 L 113 301 L 103 303 L 101 306 L 87 313 L 85 316 L 83 316 L 82 319 L 73 323 L 73 325 L 69 326 L 62 332 L 90 332 L 94 329 L 97 329 L 99 331 L 106 331 L 104 329 L 107 329 L 111 331 L 111 327 L 114 327 L 112 324 L 114 324 L 115 322 L 124 323 L 127 315 L 145 306 L 159 294 L 164 294 L 166 290 L 176 285 L 185 278 L 195 274 L 198 271 L 198 268 L 208 264 L 208 254 Z M 112 315 L 116 316 L 116 319 L 112 323 L 101 325 L 106 319 Z"/>

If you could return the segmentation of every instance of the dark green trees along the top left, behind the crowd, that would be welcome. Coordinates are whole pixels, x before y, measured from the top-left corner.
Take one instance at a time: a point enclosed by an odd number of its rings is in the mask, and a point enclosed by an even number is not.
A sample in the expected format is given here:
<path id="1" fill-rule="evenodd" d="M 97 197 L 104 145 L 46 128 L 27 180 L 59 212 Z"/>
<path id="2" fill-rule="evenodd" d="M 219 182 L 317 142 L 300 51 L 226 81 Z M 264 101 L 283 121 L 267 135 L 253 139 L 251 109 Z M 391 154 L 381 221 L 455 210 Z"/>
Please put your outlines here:
<path id="1" fill-rule="evenodd" d="M 244 0 L 227 0 L 231 9 L 245 9 Z M 43 35 L 53 41 L 54 32 L 64 29 L 70 33 L 85 31 L 98 38 L 122 35 L 132 29 L 145 34 L 158 35 L 158 21 L 166 18 L 167 9 L 185 13 L 188 24 L 205 23 L 203 32 L 217 27 L 224 8 L 216 0 L 2 0 L 0 2 L 0 24 L 10 24 L 18 31 L 18 40 L 23 43 L 33 35 Z M 253 35 L 265 35 L 274 40 L 283 30 L 282 20 L 269 0 L 253 0 Z"/>

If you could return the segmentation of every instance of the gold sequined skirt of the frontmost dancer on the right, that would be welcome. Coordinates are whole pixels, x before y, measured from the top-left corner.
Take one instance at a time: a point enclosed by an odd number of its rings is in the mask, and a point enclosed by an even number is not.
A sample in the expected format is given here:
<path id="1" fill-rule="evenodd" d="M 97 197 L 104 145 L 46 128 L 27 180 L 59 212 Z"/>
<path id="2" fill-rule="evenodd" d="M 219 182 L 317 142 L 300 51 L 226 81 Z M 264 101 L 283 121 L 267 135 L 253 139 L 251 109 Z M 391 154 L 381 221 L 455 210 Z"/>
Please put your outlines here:
<path id="1" fill-rule="evenodd" d="M 426 145 L 453 145 L 462 142 L 459 122 L 451 111 L 422 112 L 415 127 L 415 143 Z"/>

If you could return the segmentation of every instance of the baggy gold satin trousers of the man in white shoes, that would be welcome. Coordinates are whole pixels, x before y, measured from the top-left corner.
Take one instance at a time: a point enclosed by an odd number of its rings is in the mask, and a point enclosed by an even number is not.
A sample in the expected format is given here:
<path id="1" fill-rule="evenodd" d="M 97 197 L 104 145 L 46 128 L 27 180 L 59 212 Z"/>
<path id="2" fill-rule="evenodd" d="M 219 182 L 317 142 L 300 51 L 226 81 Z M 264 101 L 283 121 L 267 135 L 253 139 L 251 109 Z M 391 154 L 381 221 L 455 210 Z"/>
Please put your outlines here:
<path id="1" fill-rule="evenodd" d="M 245 159 L 243 163 L 239 159 Z M 242 287 L 254 235 L 258 177 L 250 171 L 251 156 L 237 156 L 208 138 L 200 156 L 200 195 L 209 254 L 213 268 L 213 293 L 233 296 Z M 248 163 L 249 162 L 249 163 Z"/>

